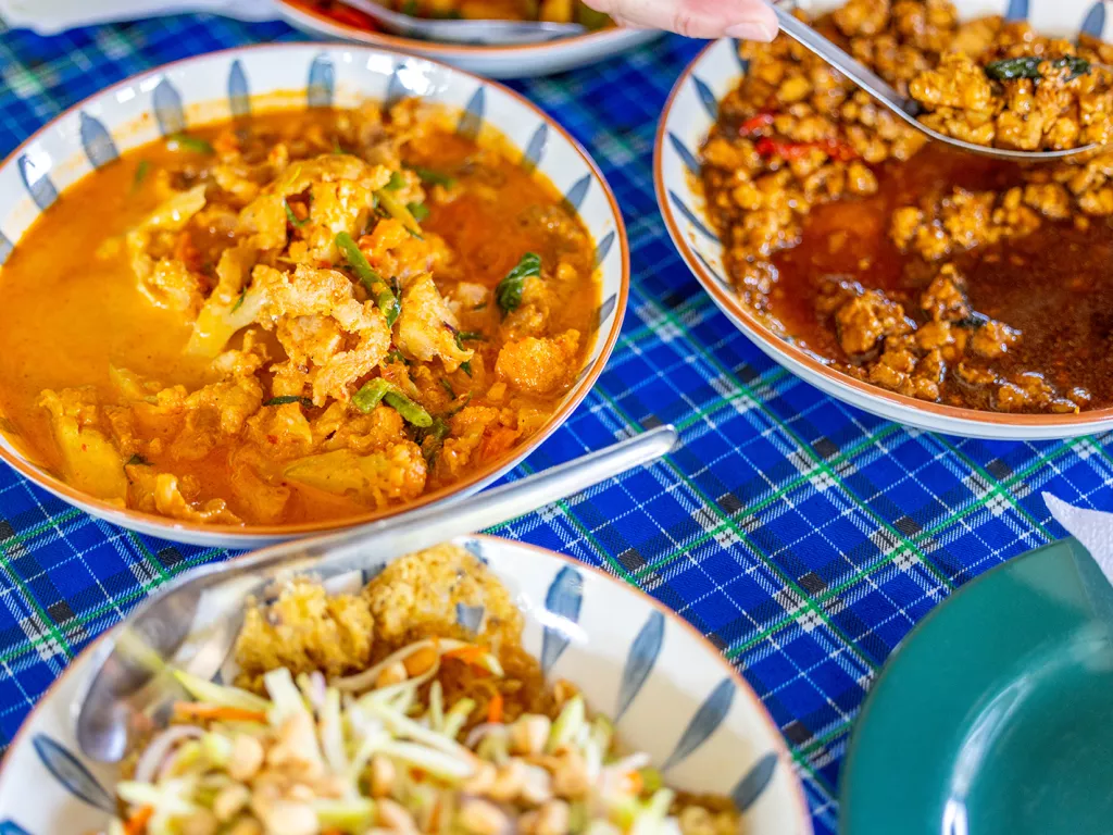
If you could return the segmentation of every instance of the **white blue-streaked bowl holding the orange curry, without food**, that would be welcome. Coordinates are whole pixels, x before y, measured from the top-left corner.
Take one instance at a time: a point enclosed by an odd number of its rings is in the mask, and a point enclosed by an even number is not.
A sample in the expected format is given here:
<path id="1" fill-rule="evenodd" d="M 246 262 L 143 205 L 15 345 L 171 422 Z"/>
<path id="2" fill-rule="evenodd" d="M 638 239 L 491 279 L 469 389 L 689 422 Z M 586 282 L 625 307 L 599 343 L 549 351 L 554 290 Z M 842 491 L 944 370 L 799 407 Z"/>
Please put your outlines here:
<path id="1" fill-rule="evenodd" d="M 602 371 L 626 312 L 630 253 L 614 195 L 587 151 L 541 109 L 501 85 L 422 58 L 367 47 L 313 43 L 230 49 L 135 76 L 70 108 L 0 165 L 0 264 L 59 193 L 96 166 L 110 164 L 125 149 L 187 125 L 230 118 L 250 107 L 351 107 L 366 98 L 394 100 L 406 96 L 457 108 L 462 129 L 490 125 L 515 147 L 525 148 L 523 159 L 549 177 L 577 207 L 594 238 L 602 287 L 600 327 L 575 385 L 540 432 L 510 458 L 401 509 L 368 512 L 343 522 L 246 529 L 180 522 L 120 510 L 92 499 L 37 463 L 18 435 L 0 434 L 0 459 L 61 499 L 116 524 L 162 539 L 226 548 L 257 548 L 460 498 L 491 483 L 524 459 L 568 419 Z"/>

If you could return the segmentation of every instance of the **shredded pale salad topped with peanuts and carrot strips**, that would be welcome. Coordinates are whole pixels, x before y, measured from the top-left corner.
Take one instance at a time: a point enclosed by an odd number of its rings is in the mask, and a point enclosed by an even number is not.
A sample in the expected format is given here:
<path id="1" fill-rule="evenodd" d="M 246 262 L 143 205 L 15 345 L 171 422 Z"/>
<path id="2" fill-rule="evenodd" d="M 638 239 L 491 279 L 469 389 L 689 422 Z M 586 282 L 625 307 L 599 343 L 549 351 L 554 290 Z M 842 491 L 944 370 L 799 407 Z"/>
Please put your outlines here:
<path id="1" fill-rule="evenodd" d="M 108 835 L 679 835 L 649 757 L 622 753 L 581 696 L 555 719 L 504 721 L 492 688 L 485 720 L 469 725 L 475 701 L 445 704 L 436 680 L 445 657 L 504 675 L 483 647 L 450 639 L 327 682 L 275 669 L 266 698 L 176 674 L 193 700 L 118 784 Z"/>

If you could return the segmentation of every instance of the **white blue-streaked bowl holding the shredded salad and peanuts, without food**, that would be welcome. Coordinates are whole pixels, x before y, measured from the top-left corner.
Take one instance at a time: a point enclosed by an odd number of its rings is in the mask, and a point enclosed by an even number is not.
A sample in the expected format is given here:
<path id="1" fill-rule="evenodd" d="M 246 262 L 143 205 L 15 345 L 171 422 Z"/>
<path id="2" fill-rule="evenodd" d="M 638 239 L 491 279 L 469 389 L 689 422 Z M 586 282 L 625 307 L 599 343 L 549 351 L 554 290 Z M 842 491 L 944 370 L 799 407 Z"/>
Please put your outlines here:
<path id="1" fill-rule="evenodd" d="M 568 557 L 493 537 L 457 542 L 511 591 L 525 615 L 525 648 L 545 674 L 577 684 L 629 744 L 663 767 L 670 785 L 733 797 L 747 835 L 811 833 L 779 730 L 738 671 L 687 621 Z M 368 566 L 341 583 L 357 587 L 372 574 Z M 72 728 L 90 656 L 86 650 L 70 665 L 8 749 L 0 833 L 102 831 L 116 769 L 86 760 Z"/>

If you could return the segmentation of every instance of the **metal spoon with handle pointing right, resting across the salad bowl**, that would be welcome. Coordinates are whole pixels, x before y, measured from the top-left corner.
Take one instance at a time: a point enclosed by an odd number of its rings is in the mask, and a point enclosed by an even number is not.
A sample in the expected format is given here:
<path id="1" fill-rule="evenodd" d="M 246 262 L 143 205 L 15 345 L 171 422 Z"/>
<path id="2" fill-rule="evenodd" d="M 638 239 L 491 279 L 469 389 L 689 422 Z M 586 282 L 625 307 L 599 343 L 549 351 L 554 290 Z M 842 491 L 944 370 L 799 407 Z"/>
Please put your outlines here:
<path id="1" fill-rule="evenodd" d="M 181 697 L 171 669 L 209 680 L 232 651 L 244 599 L 267 598 L 293 574 L 321 579 L 383 566 L 453 537 L 483 530 L 667 454 L 672 426 L 643 434 L 470 499 L 422 508 L 327 537 L 295 540 L 184 574 L 150 597 L 97 647 L 73 705 L 77 740 L 116 763 Z"/>

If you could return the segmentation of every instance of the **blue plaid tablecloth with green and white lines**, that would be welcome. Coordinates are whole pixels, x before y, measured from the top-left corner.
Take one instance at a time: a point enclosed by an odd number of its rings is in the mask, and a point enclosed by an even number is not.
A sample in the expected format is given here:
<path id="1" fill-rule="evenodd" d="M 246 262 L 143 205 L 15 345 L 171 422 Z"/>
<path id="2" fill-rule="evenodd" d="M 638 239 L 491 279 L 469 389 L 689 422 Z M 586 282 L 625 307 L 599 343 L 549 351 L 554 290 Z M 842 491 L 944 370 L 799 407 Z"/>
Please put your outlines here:
<path id="1" fill-rule="evenodd" d="M 0 153 L 132 72 L 301 37 L 214 17 L 4 32 Z M 510 478 L 666 422 L 683 445 L 496 532 L 602 566 L 705 632 L 788 739 L 817 832 L 834 833 L 850 723 L 888 654 L 954 588 L 1063 536 L 1042 491 L 1113 508 L 1113 435 L 997 443 L 905 430 L 824 396 L 739 334 L 680 262 L 653 198 L 657 120 L 698 47 L 667 38 L 515 85 L 603 167 L 634 279 L 599 385 Z M 226 556 L 99 522 L 0 468 L 0 744 L 144 595 Z"/>

